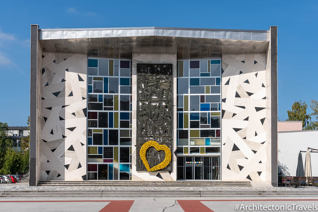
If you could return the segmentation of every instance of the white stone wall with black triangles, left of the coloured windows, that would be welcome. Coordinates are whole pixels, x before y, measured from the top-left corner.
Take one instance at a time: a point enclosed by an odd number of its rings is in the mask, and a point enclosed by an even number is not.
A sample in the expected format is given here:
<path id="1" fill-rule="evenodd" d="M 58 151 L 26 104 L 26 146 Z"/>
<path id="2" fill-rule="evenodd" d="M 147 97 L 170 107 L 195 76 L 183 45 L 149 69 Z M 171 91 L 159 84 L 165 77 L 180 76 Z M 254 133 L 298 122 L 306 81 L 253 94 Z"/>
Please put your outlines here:
<path id="1" fill-rule="evenodd" d="M 82 54 L 42 54 L 41 180 L 86 179 L 86 65 Z"/>

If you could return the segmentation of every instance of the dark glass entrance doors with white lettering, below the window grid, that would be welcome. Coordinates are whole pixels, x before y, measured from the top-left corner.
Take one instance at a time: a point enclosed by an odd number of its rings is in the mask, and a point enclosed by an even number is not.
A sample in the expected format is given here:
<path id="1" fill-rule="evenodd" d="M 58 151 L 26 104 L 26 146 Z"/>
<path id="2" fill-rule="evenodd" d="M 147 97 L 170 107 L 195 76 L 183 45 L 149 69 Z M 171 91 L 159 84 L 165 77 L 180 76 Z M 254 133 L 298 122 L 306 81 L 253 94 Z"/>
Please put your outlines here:
<path id="1" fill-rule="evenodd" d="M 220 180 L 220 156 L 178 156 L 177 180 Z"/>

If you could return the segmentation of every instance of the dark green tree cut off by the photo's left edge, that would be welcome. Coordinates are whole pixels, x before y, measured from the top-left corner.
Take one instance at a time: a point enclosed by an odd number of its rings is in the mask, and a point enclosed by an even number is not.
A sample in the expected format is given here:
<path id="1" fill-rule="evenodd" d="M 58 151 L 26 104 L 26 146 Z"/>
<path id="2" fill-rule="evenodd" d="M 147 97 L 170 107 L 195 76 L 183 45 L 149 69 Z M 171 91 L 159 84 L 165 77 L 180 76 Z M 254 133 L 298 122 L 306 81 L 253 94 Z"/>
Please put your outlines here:
<path id="1" fill-rule="evenodd" d="M 0 122 L 0 169 L 3 166 L 4 156 L 7 150 L 12 146 L 12 140 L 9 137 L 8 123 Z"/>

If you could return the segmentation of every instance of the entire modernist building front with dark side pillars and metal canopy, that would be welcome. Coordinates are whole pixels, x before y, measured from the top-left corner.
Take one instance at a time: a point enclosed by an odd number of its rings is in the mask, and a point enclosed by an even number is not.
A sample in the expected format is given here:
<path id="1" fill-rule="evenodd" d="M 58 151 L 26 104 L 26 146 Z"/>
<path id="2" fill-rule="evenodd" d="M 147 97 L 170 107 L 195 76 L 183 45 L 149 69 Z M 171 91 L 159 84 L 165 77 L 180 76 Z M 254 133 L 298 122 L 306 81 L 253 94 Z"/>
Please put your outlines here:
<path id="1" fill-rule="evenodd" d="M 277 184 L 277 27 L 31 25 L 30 185 Z"/>

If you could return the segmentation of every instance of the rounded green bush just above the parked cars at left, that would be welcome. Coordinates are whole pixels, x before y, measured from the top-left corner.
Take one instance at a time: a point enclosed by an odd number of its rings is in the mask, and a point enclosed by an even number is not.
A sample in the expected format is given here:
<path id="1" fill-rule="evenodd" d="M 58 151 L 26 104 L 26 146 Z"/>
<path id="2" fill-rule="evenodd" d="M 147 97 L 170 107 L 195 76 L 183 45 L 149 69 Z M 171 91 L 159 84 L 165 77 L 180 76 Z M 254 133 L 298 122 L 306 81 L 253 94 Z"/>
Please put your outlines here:
<path id="1" fill-rule="evenodd" d="M 8 148 L 3 159 L 3 166 L 0 170 L 3 174 L 16 174 L 21 168 L 21 155 L 17 150 Z"/>

